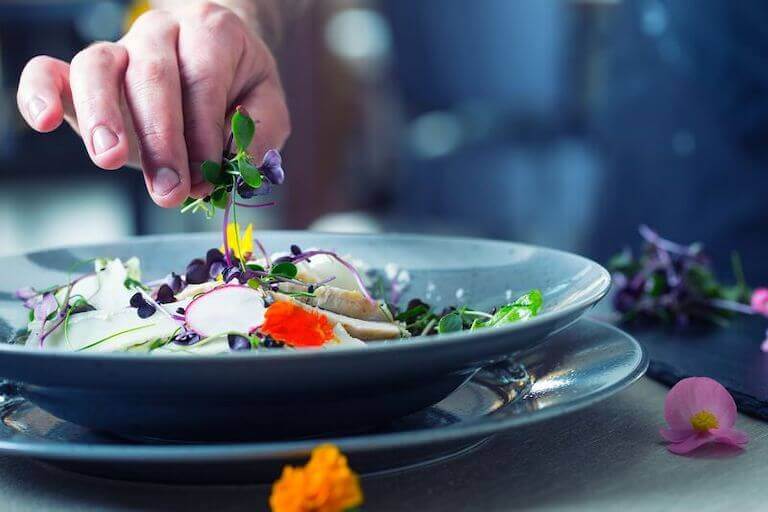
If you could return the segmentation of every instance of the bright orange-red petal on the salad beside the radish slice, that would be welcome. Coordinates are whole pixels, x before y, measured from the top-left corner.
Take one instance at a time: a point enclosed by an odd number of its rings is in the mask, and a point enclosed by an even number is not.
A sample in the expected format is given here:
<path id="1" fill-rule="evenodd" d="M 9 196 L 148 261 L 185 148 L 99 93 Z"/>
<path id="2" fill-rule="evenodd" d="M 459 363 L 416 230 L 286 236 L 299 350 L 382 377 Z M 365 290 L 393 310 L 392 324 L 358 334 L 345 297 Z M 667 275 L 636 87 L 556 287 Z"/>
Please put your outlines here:
<path id="1" fill-rule="evenodd" d="M 333 326 L 325 316 L 283 301 L 267 308 L 259 331 L 292 347 L 319 347 L 333 339 Z"/>

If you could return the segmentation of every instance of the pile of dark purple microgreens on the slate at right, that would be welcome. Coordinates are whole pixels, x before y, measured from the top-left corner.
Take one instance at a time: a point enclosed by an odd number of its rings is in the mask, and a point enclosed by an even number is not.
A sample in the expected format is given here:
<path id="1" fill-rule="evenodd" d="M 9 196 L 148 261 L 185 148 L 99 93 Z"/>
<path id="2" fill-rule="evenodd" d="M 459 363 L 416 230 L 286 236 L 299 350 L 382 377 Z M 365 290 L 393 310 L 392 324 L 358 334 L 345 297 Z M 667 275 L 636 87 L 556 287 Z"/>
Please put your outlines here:
<path id="1" fill-rule="evenodd" d="M 701 244 L 681 245 L 647 226 L 640 226 L 640 235 L 639 256 L 625 249 L 608 263 L 616 285 L 613 305 L 624 321 L 723 324 L 734 312 L 749 312 L 750 289 L 736 253 L 731 261 L 736 283 L 724 285 Z"/>

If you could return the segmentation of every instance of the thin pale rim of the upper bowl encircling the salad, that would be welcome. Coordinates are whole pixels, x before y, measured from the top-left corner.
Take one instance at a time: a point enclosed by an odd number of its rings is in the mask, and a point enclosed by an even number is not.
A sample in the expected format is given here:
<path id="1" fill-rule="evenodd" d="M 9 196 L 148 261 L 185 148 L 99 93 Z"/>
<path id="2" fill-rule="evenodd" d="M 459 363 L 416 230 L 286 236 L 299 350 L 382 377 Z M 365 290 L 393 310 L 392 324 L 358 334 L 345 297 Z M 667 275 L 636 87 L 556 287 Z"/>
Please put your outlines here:
<path id="1" fill-rule="evenodd" d="M 275 231 L 275 230 L 265 230 L 262 231 L 264 234 L 291 234 L 291 233 L 306 233 L 306 231 Z M 585 263 L 593 266 L 598 273 L 600 274 L 600 278 L 596 279 L 595 282 L 598 284 L 598 286 L 588 295 L 580 298 L 579 300 L 573 302 L 572 304 L 568 304 L 567 306 L 560 308 L 556 311 L 547 311 L 544 312 L 535 318 L 532 318 L 530 320 L 527 320 L 525 322 L 517 323 L 517 324 L 510 324 L 502 327 L 497 327 L 493 330 L 493 333 L 491 332 L 484 332 L 484 331 L 477 331 L 477 332 L 458 332 L 458 333 L 451 333 L 451 334 L 443 334 L 439 337 L 432 336 L 432 337 L 419 337 L 417 343 L 403 343 L 401 341 L 375 341 L 375 342 L 369 342 L 366 347 L 366 351 L 368 353 L 373 352 L 384 352 L 384 351 L 414 351 L 414 350 L 431 350 L 434 347 L 438 346 L 448 346 L 453 344 L 461 344 L 466 343 L 470 340 L 480 341 L 486 336 L 496 336 L 501 333 L 514 333 L 516 331 L 529 329 L 532 327 L 535 327 L 539 324 L 543 324 L 546 322 L 553 321 L 557 318 L 568 316 L 571 313 L 586 310 L 590 306 L 596 304 L 600 299 L 605 297 L 605 295 L 608 293 L 608 290 L 611 287 L 611 275 L 602 265 L 599 263 L 589 259 L 585 258 L 584 256 L 580 256 L 578 254 L 570 253 L 567 251 L 560 251 L 558 249 L 550 249 L 548 247 L 541 247 L 536 245 L 530 245 L 530 244 L 522 244 L 518 242 L 508 242 L 505 240 L 493 240 L 489 238 L 472 238 L 472 237 L 448 237 L 448 236 L 437 236 L 437 235 L 414 235 L 414 234 L 400 234 L 400 233 L 386 233 L 386 234 L 356 234 L 356 233 L 327 233 L 327 232 L 312 232 L 313 234 L 318 235 L 332 235 L 334 237 L 341 237 L 341 238 L 382 238 L 382 237 L 397 237 L 397 238 L 404 238 L 404 239 L 413 239 L 413 240 L 442 240 L 442 241 L 454 241 L 454 242 L 482 242 L 482 243 L 495 243 L 499 245 L 505 245 L 505 246 L 514 246 L 522 249 L 531 249 L 536 251 L 547 251 L 555 254 L 562 255 L 563 257 L 568 258 L 576 258 L 584 261 Z M 128 238 L 121 238 L 118 240 L 110 241 L 109 243 L 128 243 L 128 242 L 141 242 L 141 241 L 149 241 L 152 240 L 168 240 L 168 239 L 179 239 L 179 240 L 189 240 L 189 239 L 195 239 L 195 238 L 211 238 L 213 235 L 212 232 L 207 233 L 175 233 L 170 235 L 150 235 L 150 236 L 137 236 L 137 237 L 128 237 Z M 37 251 L 35 253 L 29 253 L 29 254 L 39 254 L 39 253 L 45 253 L 49 251 L 55 251 L 55 250 L 62 250 L 62 249 L 73 249 L 73 248 L 87 248 L 87 247 L 93 247 L 94 245 L 98 244 L 79 244 L 79 245 L 70 245 L 65 246 L 61 248 L 50 248 L 46 249 L 44 251 Z M 27 253 L 25 253 L 27 254 Z M 7 257 L 20 257 L 24 256 L 25 254 L 16 254 L 16 255 L 10 255 Z M 21 305 L 19 305 L 21 307 Z M 302 350 L 302 351 L 275 351 L 275 352 L 269 352 L 269 353 L 259 353 L 259 354 L 253 354 L 249 352 L 245 353 L 235 353 L 235 354 L 228 354 L 227 357 L 229 358 L 255 358 L 255 359 L 269 359 L 269 360 L 279 360 L 279 359 L 296 359 L 299 357 L 311 357 L 311 358 L 317 358 L 317 357 L 327 357 L 327 358 L 343 358 L 343 357 L 354 357 L 359 355 L 359 351 L 361 349 L 359 348 L 339 348 L 336 350 Z M 75 357 L 78 359 L 91 359 L 91 360 L 123 360 L 123 361 L 137 361 L 141 364 L 151 364 L 151 365 L 163 365 L 163 364 L 178 364 L 178 361 L 184 360 L 187 362 L 187 364 L 190 365 L 205 365 L 210 363 L 212 359 L 216 359 L 217 361 L 221 361 L 221 356 L 216 355 L 200 355 L 195 356 L 194 358 L 183 356 L 183 355 L 164 355 L 163 357 L 153 357 L 153 356 L 147 356 L 147 355 L 141 355 L 141 354 L 127 354 L 127 353 L 120 353 L 120 352 L 65 352 L 65 351 L 31 351 L 26 347 L 19 346 L 19 345 L 9 345 L 6 343 L 0 343 L 0 352 L 3 351 L 9 351 L 9 352 L 23 352 L 26 355 L 28 355 L 31 358 L 38 358 L 38 359 L 46 359 L 46 358 L 70 358 Z"/>

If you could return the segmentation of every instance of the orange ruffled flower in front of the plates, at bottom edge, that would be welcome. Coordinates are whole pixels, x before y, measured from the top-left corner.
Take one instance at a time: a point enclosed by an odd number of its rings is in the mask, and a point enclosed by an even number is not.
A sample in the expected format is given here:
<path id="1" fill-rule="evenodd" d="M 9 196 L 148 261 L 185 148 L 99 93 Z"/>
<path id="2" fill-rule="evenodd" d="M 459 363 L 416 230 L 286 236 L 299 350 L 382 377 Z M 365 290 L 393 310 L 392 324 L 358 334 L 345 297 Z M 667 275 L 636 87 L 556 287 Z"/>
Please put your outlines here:
<path id="1" fill-rule="evenodd" d="M 362 503 L 357 475 L 330 444 L 312 450 L 306 466 L 286 466 L 269 497 L 273 512 L 344 512 Z"/>

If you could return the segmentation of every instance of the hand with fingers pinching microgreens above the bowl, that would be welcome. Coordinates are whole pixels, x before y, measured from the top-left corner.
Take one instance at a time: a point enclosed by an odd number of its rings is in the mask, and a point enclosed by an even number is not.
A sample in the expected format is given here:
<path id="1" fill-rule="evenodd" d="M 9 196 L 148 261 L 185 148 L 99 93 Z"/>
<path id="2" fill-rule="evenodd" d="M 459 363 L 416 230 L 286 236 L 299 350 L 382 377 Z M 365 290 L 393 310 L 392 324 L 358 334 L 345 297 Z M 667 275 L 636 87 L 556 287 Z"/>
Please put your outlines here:
<path id="1" fill-rule="evenodd" d="M 29 125 L 66 120 L 102 169 L 140 167 L 160 206 L 201 197 L 203 160 L 221 159 L 227 115 L 242 104 L 257 121 L 251 152 L 280 148 L 290 132 L 275 59 L 258 28 L 215 3 L 180 2 L 139 17 L 116 43 L 96 43 L 71 63 L 30 60 L 17 101 Z"/>

